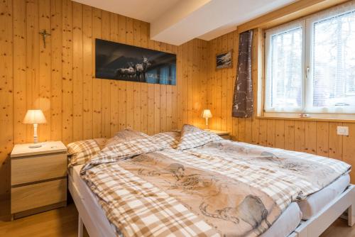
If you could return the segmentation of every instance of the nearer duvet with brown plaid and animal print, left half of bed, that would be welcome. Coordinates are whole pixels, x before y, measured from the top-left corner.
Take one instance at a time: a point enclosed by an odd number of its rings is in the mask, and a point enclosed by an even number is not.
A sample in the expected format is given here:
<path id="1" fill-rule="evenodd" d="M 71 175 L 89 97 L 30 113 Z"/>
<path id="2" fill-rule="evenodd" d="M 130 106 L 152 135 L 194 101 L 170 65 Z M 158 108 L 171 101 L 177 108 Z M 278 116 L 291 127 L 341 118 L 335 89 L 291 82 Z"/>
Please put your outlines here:
<path id="1" fill-rule="evenodd" d="M 124 236 L 260 235 L 280 206 L 222 169 L 167 149 L 92 166 L 82 177 Z"/>

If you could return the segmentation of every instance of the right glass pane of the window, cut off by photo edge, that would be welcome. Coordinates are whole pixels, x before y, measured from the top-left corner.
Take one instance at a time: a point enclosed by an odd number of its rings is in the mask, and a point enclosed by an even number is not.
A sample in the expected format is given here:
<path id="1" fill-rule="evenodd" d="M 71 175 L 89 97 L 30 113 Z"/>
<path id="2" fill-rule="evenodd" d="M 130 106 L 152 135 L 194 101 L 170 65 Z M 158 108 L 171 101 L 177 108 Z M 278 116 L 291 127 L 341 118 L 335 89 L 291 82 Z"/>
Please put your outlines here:
<path id="1" fill-rule="evenodd" d="M 312 106 L 355 106 L 355 13 L 313 24 Z"/>

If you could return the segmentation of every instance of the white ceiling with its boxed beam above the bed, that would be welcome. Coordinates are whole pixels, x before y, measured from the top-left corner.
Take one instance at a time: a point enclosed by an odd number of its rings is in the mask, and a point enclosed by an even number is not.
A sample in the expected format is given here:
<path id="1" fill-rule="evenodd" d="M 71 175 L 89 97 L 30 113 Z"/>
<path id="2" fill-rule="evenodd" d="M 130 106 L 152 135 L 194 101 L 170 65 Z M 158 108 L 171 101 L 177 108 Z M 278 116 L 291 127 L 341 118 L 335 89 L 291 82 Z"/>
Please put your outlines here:
<path id="1" fill-rule="evenodd" d="M 180 45 L 212 40 L 296 0 L 74 0 L 151 23 L 151 39 Z"/>

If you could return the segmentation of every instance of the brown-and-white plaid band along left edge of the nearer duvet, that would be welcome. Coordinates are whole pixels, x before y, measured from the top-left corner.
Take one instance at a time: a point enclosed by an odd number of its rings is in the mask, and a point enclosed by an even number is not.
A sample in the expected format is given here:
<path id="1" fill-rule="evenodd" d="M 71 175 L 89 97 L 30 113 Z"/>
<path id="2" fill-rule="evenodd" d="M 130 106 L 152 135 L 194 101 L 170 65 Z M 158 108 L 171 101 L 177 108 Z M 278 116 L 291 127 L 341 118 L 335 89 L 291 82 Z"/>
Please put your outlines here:
<path id="1" fill-rule="evenodd" d="M 117 163 L 94 167 L 84 179 L 124 236 L 220 236 L 178 199 Z"/>

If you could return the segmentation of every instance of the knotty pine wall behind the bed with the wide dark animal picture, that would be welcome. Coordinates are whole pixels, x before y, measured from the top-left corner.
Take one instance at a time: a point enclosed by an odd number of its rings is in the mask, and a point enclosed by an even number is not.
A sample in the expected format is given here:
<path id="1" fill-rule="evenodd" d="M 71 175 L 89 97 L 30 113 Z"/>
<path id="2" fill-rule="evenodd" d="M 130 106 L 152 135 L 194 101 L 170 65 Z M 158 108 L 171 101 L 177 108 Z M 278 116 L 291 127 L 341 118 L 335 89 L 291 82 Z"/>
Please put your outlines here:
<path id="1" fill-rule="evenodd" d="M 0 3 L 0 196 L 9 194 L 9 153 L 33 140 L 27 109 L 44 111 L 39 139 L 109 137 L 122 128 L 148 134 L 203 123 L 207 42 L 179 47 L 149 40 L 149 24 L 70 0 Z M 50 36 L 44 48 L 39 31 Z M 177 85 L 94 78 L 94 38 L 178 55 Z"/>

